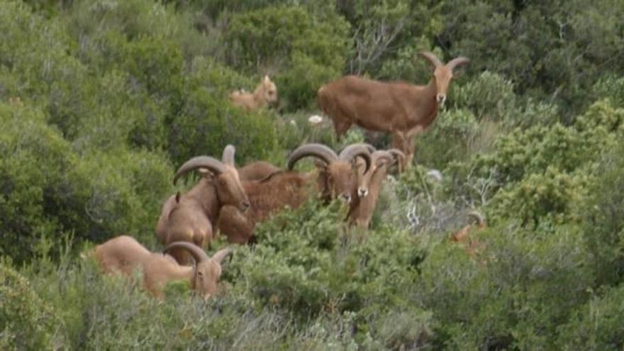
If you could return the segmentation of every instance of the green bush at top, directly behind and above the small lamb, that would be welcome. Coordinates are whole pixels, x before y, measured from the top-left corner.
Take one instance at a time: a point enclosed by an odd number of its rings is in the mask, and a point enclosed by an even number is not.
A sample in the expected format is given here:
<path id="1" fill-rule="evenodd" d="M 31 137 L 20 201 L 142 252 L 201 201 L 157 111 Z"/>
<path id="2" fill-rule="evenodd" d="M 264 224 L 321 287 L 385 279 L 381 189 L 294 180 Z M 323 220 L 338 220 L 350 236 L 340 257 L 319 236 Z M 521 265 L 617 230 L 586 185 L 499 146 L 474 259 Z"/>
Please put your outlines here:
<path id="1" fill-rule="evenodd" d="M 281 67 L 274 74 L 277 89 L 294 110 L 310 106 L 321 84 L 342 72 L 348 28 L 340 16 L 315 18 L 303 6 L 272 6 L 233 16 L 225 43 L 235 67 Z"/>

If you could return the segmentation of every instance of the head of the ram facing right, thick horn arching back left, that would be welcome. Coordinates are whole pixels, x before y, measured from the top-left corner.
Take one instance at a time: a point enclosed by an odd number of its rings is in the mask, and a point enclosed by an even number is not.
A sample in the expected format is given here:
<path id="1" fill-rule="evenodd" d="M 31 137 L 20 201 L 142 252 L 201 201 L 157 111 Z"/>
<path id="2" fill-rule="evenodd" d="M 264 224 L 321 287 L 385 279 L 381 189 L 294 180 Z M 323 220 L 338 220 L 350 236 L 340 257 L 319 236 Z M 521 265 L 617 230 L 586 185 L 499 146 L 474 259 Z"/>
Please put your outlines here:
<path id="1" fill-rule="evenodd" d="M 209 156 L 197 156 L 184 162 L 176 172 L 174 184 L 182 175 L 199 169 L 204 173 L 204 177 L 211 179 L 215 186 L 218 200 L 222 205 L 231 205 L 240 211 L 247 211 L 250 203 L 247 194 L 243 190 L 243 184 L 240 183 L 238 170 L 234 167 L 235 148 L 228 145 L 223 150 L 223 162 Z"/>

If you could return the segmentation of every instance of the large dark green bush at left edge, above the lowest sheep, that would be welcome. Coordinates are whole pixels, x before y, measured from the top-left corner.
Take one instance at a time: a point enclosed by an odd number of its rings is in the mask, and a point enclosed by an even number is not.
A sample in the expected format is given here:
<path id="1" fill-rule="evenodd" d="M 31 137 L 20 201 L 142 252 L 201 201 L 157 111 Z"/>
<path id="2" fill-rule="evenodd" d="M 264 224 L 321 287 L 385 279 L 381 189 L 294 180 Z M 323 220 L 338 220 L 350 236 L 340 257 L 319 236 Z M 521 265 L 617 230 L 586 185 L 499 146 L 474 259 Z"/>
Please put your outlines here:
<path id="1" fill-rule="evenodd" d="M 59 243 L 68 232 L 97 242 L 120 233 L 152 238 L 160 201 L 172 191 L 162 156 L 118 147 L 79 157 L 26 107 L 0 104 L 0 121 L 3 255 L 28 260 L 41 236 Z"/>

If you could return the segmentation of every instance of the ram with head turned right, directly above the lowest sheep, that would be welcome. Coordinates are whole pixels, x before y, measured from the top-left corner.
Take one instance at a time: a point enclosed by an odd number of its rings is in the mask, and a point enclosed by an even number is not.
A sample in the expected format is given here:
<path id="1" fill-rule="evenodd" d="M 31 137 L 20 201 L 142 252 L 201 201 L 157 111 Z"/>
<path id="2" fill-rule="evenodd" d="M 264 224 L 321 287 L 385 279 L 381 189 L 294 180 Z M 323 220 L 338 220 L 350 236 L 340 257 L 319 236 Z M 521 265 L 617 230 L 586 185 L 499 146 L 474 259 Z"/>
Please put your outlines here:
<path id="1" fill-rule="evenodd" d="M 230 205 L 247 211 L 249 199 L 234 167 L 235 148 L 223 150 L 223 161 L 208 156 L 193 157 L 184 162 L 174 176 L 177 179 L 188 172 L 199 170 L 199 182 L 186 194 L 169 196 L 162 206 L 156 225 L 156 235 L 162 245 L 177 241 L 208 247 L 213 239 L 221 207 Z M 180 264 L 190 264 L 188 250 L 174 247 L 171 255 Z"/>

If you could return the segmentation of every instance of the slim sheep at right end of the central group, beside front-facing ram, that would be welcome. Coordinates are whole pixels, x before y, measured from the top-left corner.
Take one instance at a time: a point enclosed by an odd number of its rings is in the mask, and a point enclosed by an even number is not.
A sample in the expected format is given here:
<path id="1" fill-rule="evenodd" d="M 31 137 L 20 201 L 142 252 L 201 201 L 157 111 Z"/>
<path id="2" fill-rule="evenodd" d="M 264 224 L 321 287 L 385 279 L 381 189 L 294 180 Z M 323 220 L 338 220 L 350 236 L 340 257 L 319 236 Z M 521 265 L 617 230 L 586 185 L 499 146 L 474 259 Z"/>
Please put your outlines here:
<path id="1" fill-rule="evenodd" d="M 371 167 L 364 172 L 363 167 L 357 172 L 357 194 L 351 202 L 348 221 L 350 225 L 369 228 L 373 212 L 377 207 L 379 191 L 392 165 L 401 165 L 405 154 L 401 150 L 376 150 L 371 154 Z"/>

